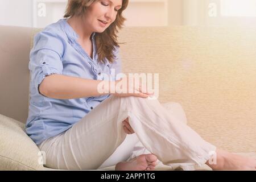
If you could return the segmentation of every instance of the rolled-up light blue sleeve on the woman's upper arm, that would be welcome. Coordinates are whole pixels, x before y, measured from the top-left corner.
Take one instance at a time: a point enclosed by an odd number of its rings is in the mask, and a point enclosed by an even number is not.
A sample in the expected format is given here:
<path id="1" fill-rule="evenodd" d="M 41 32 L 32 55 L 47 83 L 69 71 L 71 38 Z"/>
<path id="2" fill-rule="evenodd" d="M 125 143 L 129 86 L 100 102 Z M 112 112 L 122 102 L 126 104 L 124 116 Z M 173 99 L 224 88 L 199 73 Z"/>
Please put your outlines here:
<path id="1" fill-rule="evenodd" d="M 34 39 L 34 47 L 30 52 L 31 82 L 39 93 L 38 86 L 48 75 L 62 74 L 63 63 L 61 57 L 64 44 L 57 36 L 50 32 L 39 32 Z"/>

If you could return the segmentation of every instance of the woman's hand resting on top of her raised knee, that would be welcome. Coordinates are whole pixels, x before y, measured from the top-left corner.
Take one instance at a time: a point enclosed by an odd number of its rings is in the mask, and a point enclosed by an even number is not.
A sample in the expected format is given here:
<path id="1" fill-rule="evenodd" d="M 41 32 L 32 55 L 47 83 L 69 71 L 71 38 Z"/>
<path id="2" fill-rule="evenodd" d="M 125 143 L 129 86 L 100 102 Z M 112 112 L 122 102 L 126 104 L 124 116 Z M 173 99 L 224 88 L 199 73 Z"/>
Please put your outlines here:
<path id="1" fill-rule="evenodd" d="M 132 79 L 132 80 L 131 80 Z M 137 79 L 137 84 L 136 83 Z M 147 85 L 143 84 L 142 79 L 135 77 L 122 77 L 120 80 L 115 81 L 115 96 L 119 97 L 142 97 L 154 95 L 153 92 L 148 92 Z"/>

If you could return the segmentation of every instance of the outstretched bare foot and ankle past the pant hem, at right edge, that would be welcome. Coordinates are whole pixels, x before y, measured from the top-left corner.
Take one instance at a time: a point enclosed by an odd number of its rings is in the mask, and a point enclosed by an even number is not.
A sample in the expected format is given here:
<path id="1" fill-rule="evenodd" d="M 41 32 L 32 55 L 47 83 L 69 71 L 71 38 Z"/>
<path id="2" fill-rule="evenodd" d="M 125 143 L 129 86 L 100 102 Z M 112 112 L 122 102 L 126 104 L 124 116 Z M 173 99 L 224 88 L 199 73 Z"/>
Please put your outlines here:
<path id="1" fill-rule="evenodd" d="M 216 150 L 217 164 L 206 164 L 214 170 L 256 170 L 256 159 Z"/>

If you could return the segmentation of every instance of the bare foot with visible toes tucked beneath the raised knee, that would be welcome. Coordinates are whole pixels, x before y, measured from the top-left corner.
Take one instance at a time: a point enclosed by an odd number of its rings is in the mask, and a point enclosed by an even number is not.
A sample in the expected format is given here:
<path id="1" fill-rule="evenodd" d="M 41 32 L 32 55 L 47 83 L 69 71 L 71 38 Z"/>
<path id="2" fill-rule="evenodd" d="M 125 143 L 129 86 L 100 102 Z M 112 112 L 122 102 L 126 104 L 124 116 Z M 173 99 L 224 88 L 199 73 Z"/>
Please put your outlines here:
<path id="1" fill-rule="evenodd" d="M 151 171 L 155 169 L 158 158 L 154 154 L 142 154 L 128 162 L 119 162 L 117 171 Z"/>

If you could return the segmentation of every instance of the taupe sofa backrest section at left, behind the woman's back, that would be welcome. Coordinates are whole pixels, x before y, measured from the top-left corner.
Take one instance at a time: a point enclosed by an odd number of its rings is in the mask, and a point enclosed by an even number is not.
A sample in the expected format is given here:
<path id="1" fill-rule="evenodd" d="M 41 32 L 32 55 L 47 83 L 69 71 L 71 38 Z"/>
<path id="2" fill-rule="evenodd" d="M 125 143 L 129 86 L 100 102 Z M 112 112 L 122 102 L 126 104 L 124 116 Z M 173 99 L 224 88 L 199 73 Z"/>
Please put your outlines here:
<path id="1" fill-rule="evenodd" d="M 26 122 L 32 28 L 0 26 L 0 114 Z"/>

